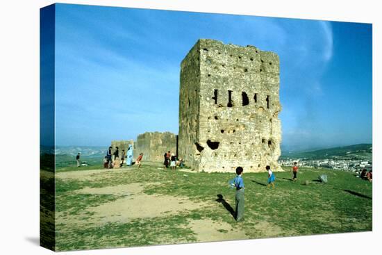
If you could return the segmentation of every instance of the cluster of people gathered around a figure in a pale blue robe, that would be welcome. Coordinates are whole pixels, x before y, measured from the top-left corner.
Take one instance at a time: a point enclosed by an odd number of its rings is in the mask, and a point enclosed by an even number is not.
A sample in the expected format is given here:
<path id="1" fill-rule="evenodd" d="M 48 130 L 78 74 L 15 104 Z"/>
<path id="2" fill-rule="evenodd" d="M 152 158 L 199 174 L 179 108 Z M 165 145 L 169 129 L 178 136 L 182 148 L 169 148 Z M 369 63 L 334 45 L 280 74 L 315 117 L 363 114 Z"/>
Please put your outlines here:
<path id="1" fill-rule="evenodd" d="M 127 152 L 122 149 L 121 157 L 119 158 L 119 148 L 115 147 L 114 153 L 112 153 L 113 147 L 109 147 L 106 152 L 105 158 L 103 158 L 103 167 L 104 168 L 120 168 L 123 167 L 125 160 L 126 166 L 138 165 L 140 168 L 143 158 L 143 153 L 141 152 L 138 158 L 133 161 L 133 145 L 128 145 Z"/>

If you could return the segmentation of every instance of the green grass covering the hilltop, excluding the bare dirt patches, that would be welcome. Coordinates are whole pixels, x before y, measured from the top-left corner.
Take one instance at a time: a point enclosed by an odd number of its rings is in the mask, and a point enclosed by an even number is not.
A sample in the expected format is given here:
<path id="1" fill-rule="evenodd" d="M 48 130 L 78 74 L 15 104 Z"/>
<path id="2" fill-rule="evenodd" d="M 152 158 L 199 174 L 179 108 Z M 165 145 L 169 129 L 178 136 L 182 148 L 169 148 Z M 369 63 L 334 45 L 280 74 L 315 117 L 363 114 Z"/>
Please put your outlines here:
<path id="1" fill-rule="evenodd" d="M 237 224 L 227 209 L 235 208 L 235 190 L 228 186 L 235 174 L 188 173 L 158 170 L 158 167 L 160 163 L 143 163 L 142 170 L 132 167 L 119 172 L 94 172 L 92 181 L 56 179 L 56 211 L 77 215 L 87 208 L 119 199 L 115 195 L 80 194 L 75 190 L 128 183 L 142 183 L 147 195 L 188 197 L 211 207 L 103 227 L 67 229 L 65 224 L 58 225 L 58 250 L 195 242 L 188 220 L 200 219 L 239 227 L 249 238 L 372 230 L 372 183 L 349 172 L 300 167 L 297 182 L 291 181 L 290 171 L 276 172 L 276 188 L 269 189 L 267 173 L 244 170 L 244 222 Z M 83 170 L 79 168 L 78 171 Z M 319 174 L 327 174 L 329 182 L 319 183 Z M 306 181 L 310 184 L 306 185 Z M 225 229 L 218 231 L 226 233 Z"/>

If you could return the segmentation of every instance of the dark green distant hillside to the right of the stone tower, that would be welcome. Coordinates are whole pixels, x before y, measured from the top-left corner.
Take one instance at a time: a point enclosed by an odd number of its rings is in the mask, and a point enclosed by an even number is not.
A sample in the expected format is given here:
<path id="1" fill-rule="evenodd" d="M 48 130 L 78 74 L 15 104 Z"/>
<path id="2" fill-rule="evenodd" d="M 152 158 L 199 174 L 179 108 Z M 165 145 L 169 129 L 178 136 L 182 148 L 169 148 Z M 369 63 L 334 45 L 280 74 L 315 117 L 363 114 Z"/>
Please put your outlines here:
<path id="1" fill-rule="evenodd" d="M 330 149 L 319 149 L 315 151 L 285 152 L 281 154 L 281 159 L 285 158 L 372 158 L 372 144 L 349 145 L 334 147 Z"/>

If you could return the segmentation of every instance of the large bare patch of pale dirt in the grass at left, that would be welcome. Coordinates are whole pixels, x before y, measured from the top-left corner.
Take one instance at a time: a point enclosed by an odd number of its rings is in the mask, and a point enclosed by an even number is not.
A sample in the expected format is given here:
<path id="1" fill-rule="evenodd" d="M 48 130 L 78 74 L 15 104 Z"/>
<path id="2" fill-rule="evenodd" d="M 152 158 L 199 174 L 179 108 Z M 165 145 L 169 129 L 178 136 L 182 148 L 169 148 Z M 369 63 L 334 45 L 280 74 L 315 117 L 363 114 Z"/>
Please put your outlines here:
<path id="1" fill-rule="evenodd" d="M 145 186 L 153 184 L 155 183 L 145 183 Z M 110 222 L 126 223 L 137 218 L 167 217 L 211 206 L 204 202 L 190 201 L 187 197 L 147 195 L 143 193 L 143 190 L 142 183 L 75 190 L 74 193 L 116 195 L 121 198 L 99 206 L 85 208 L 77 215 L 65 215 L 63 212 L 58 212 L 56 213 L 57 223 L 65 224 L 67 227 L 89 226 L 90 224 L 101 226 Z"/>

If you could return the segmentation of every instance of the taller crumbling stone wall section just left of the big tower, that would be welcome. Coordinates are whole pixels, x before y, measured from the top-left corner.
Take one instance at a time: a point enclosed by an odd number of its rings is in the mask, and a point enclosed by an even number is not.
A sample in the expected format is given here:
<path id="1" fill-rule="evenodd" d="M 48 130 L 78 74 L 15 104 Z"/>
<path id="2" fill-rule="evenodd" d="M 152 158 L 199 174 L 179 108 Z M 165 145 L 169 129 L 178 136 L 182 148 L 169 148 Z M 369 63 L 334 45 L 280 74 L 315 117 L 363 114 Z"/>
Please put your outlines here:
<path id="1" fill-rule="evenodd" d="M 164 161 L 163 154 L 176 154 L 176 135 L 169 132 L 146 132 L 138 135 L 134 158 L 143 152 L 144 161 Z"/>

